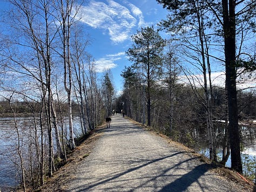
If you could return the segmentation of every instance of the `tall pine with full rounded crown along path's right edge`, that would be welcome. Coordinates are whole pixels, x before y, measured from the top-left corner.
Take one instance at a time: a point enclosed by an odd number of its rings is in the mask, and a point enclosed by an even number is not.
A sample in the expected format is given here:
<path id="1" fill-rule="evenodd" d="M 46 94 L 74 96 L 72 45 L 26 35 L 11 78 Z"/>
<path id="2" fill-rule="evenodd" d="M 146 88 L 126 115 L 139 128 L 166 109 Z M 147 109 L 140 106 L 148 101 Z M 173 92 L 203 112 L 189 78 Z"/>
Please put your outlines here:
<path id="1" fill-rule="evenodd" d="M 132 68 L 142 83 L 146 84 L 146 102 L 147 102 L 147 125 L 151 125 L 151 99 L 157 81 L 162 75 L 163 50 L 165 40 L 154 30 L 153 26 L 147 26 L 137 30 L 137 34 L 132 36 L 132 47 L 126 52 L 133 61 Z"/>

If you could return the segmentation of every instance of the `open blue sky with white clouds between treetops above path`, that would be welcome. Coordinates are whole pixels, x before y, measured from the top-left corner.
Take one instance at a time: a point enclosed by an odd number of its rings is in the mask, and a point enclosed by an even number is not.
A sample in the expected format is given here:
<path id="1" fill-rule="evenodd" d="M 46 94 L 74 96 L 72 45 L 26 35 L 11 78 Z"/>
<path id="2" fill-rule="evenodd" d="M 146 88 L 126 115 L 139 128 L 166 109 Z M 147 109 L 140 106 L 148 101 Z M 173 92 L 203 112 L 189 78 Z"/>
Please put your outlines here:
<path id="1" fill-rule="evenodd" d="M 88 51 L 96 60 L 99 74 L 110 69 L 116 91 L 123 88 L 120 73 L 131 65 L 125 51 L 131 47 L 131 35 L 141 27 L 151 26 L 165 19 L 167 11 L 156 0 L 88 1 L 80 16 L 92 43 Z"/>

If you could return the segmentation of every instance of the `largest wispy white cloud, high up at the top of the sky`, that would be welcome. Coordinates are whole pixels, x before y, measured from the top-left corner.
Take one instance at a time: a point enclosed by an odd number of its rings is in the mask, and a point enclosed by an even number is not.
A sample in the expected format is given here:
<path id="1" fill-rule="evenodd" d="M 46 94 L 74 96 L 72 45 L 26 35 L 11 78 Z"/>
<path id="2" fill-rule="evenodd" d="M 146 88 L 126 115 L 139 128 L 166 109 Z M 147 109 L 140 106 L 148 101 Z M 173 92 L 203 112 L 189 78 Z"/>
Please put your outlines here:
<path id="1" fill-rule="evenodd" d="M 125 4 L 130 10 L 113 0 L 107 0 L 107 4 L 92 0 L 82 6 L 79 17 L 92 28 L 107 31 L 113 43 L 124 42 L 137 24 L 145 24 L 142 11 L 131 3 Z"/>

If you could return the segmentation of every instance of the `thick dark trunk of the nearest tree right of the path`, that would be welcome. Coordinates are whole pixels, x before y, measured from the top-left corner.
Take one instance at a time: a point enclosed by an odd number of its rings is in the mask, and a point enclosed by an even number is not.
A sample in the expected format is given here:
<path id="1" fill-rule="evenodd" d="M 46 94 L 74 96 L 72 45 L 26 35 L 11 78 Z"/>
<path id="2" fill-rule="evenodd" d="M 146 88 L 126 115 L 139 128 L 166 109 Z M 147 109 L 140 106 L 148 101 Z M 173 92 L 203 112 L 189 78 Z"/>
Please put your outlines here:
<path id="1" fill-rule="evenodd" d="M 237 71 L 235 62 L 235 1 L 222 0 L 225 41 L 225 68 L 228 98 L 231 168 L 242 173 L 237 106 Z"/>

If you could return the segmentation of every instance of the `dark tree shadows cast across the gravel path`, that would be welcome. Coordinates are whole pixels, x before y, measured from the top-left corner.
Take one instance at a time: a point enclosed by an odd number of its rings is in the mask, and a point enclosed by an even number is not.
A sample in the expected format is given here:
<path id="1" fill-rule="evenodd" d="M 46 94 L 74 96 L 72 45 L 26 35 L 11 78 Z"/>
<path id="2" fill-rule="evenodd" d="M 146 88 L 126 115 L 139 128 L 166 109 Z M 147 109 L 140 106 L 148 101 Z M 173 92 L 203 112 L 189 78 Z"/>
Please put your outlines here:
<path id="1" fill-rule="evenodd" d="M 121 119 L 121 118 L 119 118 L 119 116 L 117 116 L 116 119 Z M 114 135 L 119 135 L 119 134 L 122 134 L 122 135 L 125 135 L 125 134 L 131 135 L 131 133 L 139 134 L 140 132 L 144 132 L 144 130 L 140 127 L 136 127 L 136 126 L 133 127 L 130 124 L 127 124 L 127 125 L 123 124 L 123 125 L 113 125 L 110 128 L 104 129 L 103 132 L 108 133 L 104 136 L 111 136 L 112 137 Z M 151 149 L 151 150 L 156 150 L 156 148 Z M 142 153 L 142 152 L 146 152 L 146 151 L 150 151 L 150 150 L 146 149 L 146 150 L 143 150 L 143 151 L 139 151 L 137 153 Z M 93 190 L 93 188 L 97 188 L 98 186 L 101 186 L 102 184 L 117 182 L 117 179 L 119 179 L 119 180 L 122 179 L 123 180 L 124 179 L 124 177 L 122 177 L 123 175 L 135 172 L 136 170 L 144 168 L 144 167 L 148 166 L 149 164 L 157 163 L 158 161 L 167 160 L 167 159 L 169 159 L 171 157 L 174 157 L 174 156 L 176 156 L 176 158 L 178 158 L 180 154 L 186 153 L 186 152 L 176 152 L 176 153 L 172 152 L 172 153 L 173 154 L 166 154 L 162 157 L 158 157 L 157 159 L 153 159 L 153 160 L 152 159 L 151 160 L 145 159 L 144 160 L 145 162 L 143 162 L 143 159 L 138 159 L 138 162 L 141 162 L 142 164 L 140 163 L 140 165 L 134 166 L 132 168 L 130 167 L 130 169 L 122 170 L 120 172 L 119 172 L 119 170 L 116 170 L 114 173 L 112 173 L 110 175 L 107 175 L 107 176 L 103 175 L 103 176 L 100 176 L 100 177 L 96 177 L 96 180 L 93 180 L 92 182 L 87 183 L 87 184 L 80 184 L 80 186 L 77 186 L 76 188 L 73 188 L 72 190 L 75 190 L 75 191 Z M 132 153 L 132 154 L 134 154 L 134 153 Z M 123 155 L 125 156 L 127 154 L 122 154 L 122 156 Z M 115 161 L 116 158 L 114 158 L 114 157 L 116 157 L 116 156 L 120 156 L 120 155 L 114 155 L 114 156 L 111 155 L 111 156 L 108 156 L 108 157 L 112 157 L 112 161 Z M 191 170 L 187 170 L 187 171 L 189 171 L 188 173 L 186 173 L 184 175 L 179 175 L 179 178 L 175 177 L 177 175 L 174 175 L 174 174 L 170 175 L 170 170 L 180 169 L 182 167 L 182 166 L 180 166 L 181 164 L 183 164 L 183 163 L 187 163 L 187 164 L 193 163 L 192 160 L 194 160 L 196 158 L 197 157 L 192 157 L 190 159 L 181 160 L 178 163 L 175 163 L 173 166 L 171 166 L 171 165 L 166 166 L 161 171 L 161 174 L 159 172 L 157 174 L 144 175 L 143 177 L 140 178 L 140 180 L 143 180 L 143 179 L 146 178 L 146 181 L 143 181 L 142 184 L 140 184 L 138 187 L 133 186 L 133 189 L 141 190 L 141 189 L 143 189 L 144 186 L 147 185 L 147 183 L 156 183 L 159 177 L 167 178 L 167 176 L 171 176 L 170 178 L 172 180 L 170 180 L 169 182 L 166 181 L 165 182 L 166 185 L 163 188 L 161 188 L 160 191 L 186 191 L 192 185 L 192 183 L 194 183 L 194 182 L 197 182 L 200 186 L 199 178 L 202 175 L 204 175 L 207 172 L 207 170 L 211 169 L 211 166 L 209 166 L 207 164 L 200 164 L 196 167 L 192 166 L 193 168 L 191 168 Z M 95 161 L 95 159 L 93 161 Z M 120 160 L 117 159 L 117 161 L 120 161 Z M 130 164 L 133 164 L 134 162 L 137 163 L 137 160 L 136 161 L 129 161 Z M 100 163 L 103 163 L 103 162 L 100 162 Z M 190 166 L 188 166 L 188 167 L 190 167 Z M 134 173 L 132 173 L 132 174 L 134 174 Z M 172 177 L 172 176 L 174 176 L 174 177 Z M 84 176 L 81 175 L 78 180 L 82 181 L 84 179 L 85 179 Z M 127 180 L 136 180 L 136 178 L 134 178 L 134 177 L 127 177 L 126 178 L 125 177 L 125 181 L 127 181 Z M 113 188 L 113 186 L 111 186 L 111 185 L 110 186 L 105 186 L 105 187 L 107 187 L 107 188 L 105 188 L 106 190 L 117 191 L 117 188 Z M 122 190 L 127 189 L 127 190 L 130 191 L 130 188 L 125 188 L 127 186 L 116 186 L 116 187 L 119 187 L 119 189 L 122 189 Z M 205 186 L 200 186 L 200 188 L 202 190 L 207 190 L 207 189 L 205 189 L 206 188 Z M 158 189 L 158 191 L 159 191 L 159 188 L 155 188 L 155 189 Z"/>

